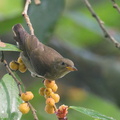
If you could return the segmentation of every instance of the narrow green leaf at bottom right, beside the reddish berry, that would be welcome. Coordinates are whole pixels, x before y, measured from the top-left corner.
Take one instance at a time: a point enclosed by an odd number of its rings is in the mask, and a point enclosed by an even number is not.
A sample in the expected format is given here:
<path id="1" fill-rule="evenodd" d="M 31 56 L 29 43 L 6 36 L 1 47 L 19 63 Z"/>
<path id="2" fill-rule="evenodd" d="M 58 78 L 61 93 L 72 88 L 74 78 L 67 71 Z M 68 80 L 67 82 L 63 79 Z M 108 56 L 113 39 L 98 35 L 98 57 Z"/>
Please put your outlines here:
<path id="1" fill-rule="evenodd" d="M 88 109 L 88 108 L 84 108 L 84 107 L 76 107 L 76 106 L 70 106 L 69 108 L 71 108 L 73 110 L 76 110 L 78 112 L 81 112 L 83 114 L 89 115 L 89 116 L 91 116 L 93 118 L 96 118 L 96 119 L 100 119 L 100 120 L 115 120 L 112 117 L 108 117 L 108 116 L 102 115 L 99 112 L 94 111 L 92 109 Z"/>

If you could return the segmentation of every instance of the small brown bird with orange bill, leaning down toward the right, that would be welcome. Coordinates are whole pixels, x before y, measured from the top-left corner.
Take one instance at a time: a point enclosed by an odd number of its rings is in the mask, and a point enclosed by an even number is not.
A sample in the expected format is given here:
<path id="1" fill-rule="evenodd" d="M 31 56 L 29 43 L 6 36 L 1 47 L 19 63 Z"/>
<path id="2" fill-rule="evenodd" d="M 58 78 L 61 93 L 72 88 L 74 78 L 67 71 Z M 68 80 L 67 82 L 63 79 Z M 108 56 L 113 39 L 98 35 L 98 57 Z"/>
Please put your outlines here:
<path id="1" fill-rule="evenodd" d="M 20 57 L 33 77 L 57 80 L 71 71 L 77 71 L 72 60 L 64 58 L 53 48 L 29 34 L 21 24 L 12 27 L 14 39 L 21 50 Z"/>

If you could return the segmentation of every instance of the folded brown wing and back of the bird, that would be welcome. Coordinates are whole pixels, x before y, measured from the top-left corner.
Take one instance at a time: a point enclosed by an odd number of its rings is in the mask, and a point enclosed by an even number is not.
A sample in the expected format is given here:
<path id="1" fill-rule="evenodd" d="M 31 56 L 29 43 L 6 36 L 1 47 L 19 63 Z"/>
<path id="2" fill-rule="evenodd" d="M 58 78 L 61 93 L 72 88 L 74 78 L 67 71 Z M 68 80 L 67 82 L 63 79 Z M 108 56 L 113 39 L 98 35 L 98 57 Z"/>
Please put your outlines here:
<path id="1" fill-rule="evenodd" d="M 44 76 L 51 71 L 51 64 L 57 58 L 62 56 L 54 49 L 42 44 L 37 38 L 30 41 L 31 44 L 26 44 L 26 51 L 30 58 L 31 64 L 36 73 Z"/>

